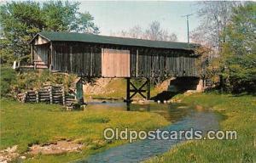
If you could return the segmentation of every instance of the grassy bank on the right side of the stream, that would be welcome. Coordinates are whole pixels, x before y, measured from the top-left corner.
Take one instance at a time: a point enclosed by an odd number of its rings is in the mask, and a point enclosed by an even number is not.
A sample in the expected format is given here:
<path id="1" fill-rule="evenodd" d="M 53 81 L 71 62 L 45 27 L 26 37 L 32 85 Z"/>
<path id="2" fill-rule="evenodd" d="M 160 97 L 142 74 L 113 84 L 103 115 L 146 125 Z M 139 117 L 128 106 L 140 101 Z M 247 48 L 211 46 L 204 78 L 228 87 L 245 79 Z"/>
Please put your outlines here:
<path id="1" fill-rule="evenodd" d="M 237 140 L 201 140 L 177 145 L 164 155 L 146 162 L 255 162 L 256 99 L 215 93 L 194 94 L 179 98 L 226 115 L 221 130 L 236 130 Z M 254 134 L 254 138 L 253 138 Z"/>

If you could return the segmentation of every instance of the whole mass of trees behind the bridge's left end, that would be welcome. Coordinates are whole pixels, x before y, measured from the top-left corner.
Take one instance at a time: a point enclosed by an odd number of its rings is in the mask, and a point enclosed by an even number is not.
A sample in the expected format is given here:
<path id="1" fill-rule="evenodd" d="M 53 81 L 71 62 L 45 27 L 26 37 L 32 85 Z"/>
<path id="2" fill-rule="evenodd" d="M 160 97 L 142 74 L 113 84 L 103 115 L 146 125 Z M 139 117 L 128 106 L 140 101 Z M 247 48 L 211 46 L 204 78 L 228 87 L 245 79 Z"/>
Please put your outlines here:
<path id="1" fill-rule="evenodd" d="M 98 33 L 93 20 L 89 13 L 79 13 L 79 3 L 4 3 L 0 6 L 1 64 L 9 64 L 13 59 L 23 59 L 21 57 L 28 55 L 28 42 L 39 31 Z"/>

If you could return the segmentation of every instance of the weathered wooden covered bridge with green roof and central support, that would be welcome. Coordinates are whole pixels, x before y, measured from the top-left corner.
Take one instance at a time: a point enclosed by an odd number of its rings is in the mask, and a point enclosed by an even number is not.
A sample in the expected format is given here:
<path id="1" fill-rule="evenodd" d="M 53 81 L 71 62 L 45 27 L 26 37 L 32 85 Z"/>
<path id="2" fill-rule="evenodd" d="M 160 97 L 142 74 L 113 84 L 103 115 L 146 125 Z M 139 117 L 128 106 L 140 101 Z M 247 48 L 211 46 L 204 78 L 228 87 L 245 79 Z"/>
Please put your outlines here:
<path id="1" fill-rule="evenodd" d="M 38 33 L 31 41 L 35 67 L 81 77 L 124 77 L 128 101 L 136 93 L 150 98 L 150 78 L 198 77 L 195 68 L 198 58 L 195 48 L 198 46 L 185 42 L 46 31 Z M 147 82 L 137 88 L 130 81 L 132 77 L 144 77 Z M 143 89 L 145 86 L 147 89 Z"/>

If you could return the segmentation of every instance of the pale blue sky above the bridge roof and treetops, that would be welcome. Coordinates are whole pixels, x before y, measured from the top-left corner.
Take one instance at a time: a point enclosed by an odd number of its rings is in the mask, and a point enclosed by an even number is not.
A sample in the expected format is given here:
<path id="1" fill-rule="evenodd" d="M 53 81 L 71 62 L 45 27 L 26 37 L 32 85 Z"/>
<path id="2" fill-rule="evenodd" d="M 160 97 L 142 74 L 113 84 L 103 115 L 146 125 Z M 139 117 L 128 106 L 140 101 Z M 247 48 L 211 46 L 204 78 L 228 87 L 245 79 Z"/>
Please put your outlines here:
<path id="1" fill-rule="evenodd" d="M 109 36 L 122 30 L 139 25 L 143 29 L 158 20 L 163 29 L 177 34 L 178 42 L 187 42 L 187 20 L 189 17 L 189 31 L 199 25 L 196 11 L 197 2 L 166 2 L 166 1 L 80 1 L 80 12 L 88 11 L 95 18 L 100 28 L 100 35 Z"/>

